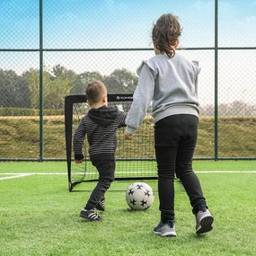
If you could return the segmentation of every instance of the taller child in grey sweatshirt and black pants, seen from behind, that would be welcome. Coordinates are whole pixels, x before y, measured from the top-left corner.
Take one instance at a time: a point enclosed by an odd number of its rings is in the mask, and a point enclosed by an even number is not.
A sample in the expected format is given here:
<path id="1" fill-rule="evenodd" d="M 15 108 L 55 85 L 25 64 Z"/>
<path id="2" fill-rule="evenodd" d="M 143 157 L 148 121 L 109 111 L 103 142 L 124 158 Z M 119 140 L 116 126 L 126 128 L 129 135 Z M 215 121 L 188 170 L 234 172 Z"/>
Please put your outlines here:
<path id="1" fill-rule="evenodd" d="M 163 14 L 154 24 L 152 40 L 155 56 L 138 69 L 139 80 L 126 119 L 127 139 L 141 125 L 152 103 L 154 148 L 158 172 L 160 223 L 154 233 L 176 236 L 174 215 L 174 176 L 188 194 L 196 216 L 196 233 L 213 228 L 199 178 L 192 170 L 192 159 L 198 138 L 199 97 L 198 63 L 176 53 L 181 35 L 178 18 Z"/>

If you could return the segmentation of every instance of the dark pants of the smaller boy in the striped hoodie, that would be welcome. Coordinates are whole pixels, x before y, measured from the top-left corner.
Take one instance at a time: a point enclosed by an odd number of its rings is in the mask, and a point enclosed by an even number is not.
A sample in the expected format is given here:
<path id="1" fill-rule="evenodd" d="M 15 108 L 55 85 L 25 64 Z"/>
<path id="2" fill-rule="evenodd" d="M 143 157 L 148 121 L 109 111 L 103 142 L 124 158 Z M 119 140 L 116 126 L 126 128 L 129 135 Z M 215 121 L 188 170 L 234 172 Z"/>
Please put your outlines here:
<path id="1" fill-rule="evenodd" d="M 115 179 L 115 160 L 93 160 L 93 165 L 99 172 L 99 181 L 94 188 L 90 199 L 85 206 L 86 209 L 96 207 L 102 196 L 110 188 L 110 184 Z"/>

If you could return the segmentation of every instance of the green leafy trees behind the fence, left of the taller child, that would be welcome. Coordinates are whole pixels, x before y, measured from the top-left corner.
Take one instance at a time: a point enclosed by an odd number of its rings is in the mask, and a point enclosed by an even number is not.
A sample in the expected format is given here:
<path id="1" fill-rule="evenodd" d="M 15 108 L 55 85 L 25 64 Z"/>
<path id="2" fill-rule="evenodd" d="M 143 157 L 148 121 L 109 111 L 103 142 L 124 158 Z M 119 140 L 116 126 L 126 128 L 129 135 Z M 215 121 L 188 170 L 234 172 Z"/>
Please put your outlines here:
<path id="1" fill-rule="evenodd" d="M 137 85 L 137 75 L 127 69 L 116 69 L 110 75 L 100 72 L 76 74 L 65 66 L 57 65 L 43 71 L 43 105 L 45 109 L 61 109 L 69 94 L 84 94 L 86 85 L 92 80 L 106 84 L 108 93 L 133 93 Z M 39 108 L 40 71 L 31 68 L 22 75 L 13 70 L 0 69 L 0 107 Z"/>

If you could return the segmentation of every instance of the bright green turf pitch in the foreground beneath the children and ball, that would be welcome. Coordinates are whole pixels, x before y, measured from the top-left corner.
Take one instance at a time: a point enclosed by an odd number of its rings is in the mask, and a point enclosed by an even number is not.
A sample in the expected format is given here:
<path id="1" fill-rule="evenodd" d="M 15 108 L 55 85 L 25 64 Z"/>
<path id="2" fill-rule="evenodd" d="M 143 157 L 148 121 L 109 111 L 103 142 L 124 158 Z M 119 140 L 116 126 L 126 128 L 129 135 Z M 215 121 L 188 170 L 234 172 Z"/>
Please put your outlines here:
<path id="1" fill-rule="evenodd" d="M 189 200 L 175 181 L 177 237 L 163 238 L 153 234 L 157 181 L 146 181 L 155 201 L 142 212 L 129 210 L 125 201 L 132 181 L 113 182 L 102 222 L 86 223 L 79 212 L 94 182 L 70 193 L 66 163 L 0 163 L 0 255 L 256 255 L 256 162 L 195 161 L 194 169 L 214 230 L 195 234 Z"/>

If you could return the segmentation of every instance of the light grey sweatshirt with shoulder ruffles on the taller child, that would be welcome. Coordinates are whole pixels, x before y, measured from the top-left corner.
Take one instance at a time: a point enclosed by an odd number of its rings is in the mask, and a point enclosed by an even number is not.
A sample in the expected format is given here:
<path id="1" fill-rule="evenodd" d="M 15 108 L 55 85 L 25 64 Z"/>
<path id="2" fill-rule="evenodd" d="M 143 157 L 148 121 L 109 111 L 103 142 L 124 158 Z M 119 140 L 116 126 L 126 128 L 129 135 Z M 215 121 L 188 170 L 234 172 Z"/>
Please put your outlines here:
<path id="1" fill-rule="evenodd" d="M 177 52 L 174 57 L 158 54 L 143 61 L 137 70 L 139 79 L 126 119 L 126 132 L 135 132 L 150 104 L 154 123 L 177 114 L 199 116 L 199 72 L 196 61 Z"/>

